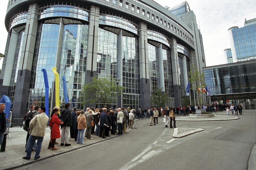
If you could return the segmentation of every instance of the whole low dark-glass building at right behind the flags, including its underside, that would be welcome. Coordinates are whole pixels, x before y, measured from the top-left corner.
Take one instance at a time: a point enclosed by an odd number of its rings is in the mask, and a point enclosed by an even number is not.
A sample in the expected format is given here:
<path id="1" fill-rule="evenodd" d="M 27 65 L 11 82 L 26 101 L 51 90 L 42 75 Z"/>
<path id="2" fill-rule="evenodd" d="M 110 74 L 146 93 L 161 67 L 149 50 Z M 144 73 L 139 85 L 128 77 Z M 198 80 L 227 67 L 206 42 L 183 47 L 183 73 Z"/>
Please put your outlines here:
<path id="1" fill-rule="evenodd" d="M 204 67 L 212 101 L 256 98 L 256 60 Z M 223 100 L 226 101 L 226 100 Z"/>

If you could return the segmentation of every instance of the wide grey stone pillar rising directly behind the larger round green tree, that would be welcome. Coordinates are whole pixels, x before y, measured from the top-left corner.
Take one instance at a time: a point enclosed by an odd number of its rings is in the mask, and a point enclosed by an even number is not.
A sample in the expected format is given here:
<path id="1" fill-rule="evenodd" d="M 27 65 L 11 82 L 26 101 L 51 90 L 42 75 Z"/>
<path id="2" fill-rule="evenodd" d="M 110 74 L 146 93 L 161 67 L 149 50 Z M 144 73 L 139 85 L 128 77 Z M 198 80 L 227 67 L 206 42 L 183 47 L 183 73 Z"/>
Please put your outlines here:
<path id="1" fill-rule="evenodd" d="M 98 51 L 98 35 L 99 35 L 99 16 L 100 7 L 91 6 L 90 23 L 88 29 L 87 44 L 87 62 L 85 82 L 92 82 L 92 78 L 97 75 L 97 51 Z M 83 85 L 83 84 L 82 84 Z M 86 107 L 95 107 L 95 103 L 86 104 Z M 84 105 L 85 109 L 85 105 Z"/>

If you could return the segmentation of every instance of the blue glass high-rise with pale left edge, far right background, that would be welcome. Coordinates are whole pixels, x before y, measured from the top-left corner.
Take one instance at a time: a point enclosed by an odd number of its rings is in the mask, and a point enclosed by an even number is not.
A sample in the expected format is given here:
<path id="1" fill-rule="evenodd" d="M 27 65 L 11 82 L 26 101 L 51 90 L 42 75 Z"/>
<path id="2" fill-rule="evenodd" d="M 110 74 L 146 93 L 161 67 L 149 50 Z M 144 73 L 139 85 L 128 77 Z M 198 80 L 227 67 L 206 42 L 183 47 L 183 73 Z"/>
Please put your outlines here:
<path id="1" fill-rule="evenodd" d="M 228 29 L 233 62 L 256 59 L 256 18 L 245 20 L 244 27 Z"/>

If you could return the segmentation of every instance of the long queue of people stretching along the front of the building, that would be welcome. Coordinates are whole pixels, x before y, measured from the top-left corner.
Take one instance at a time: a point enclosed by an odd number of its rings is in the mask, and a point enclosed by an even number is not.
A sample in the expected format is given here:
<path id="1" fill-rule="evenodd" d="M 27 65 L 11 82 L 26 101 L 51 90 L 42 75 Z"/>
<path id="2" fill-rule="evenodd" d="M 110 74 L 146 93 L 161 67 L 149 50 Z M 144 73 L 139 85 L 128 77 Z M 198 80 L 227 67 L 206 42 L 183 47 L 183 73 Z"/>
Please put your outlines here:
<path id="1" fill-rule="evenodd" d="M 0 104 L 0 113 L 4 104 Z M 60 107 L 55 107 L 50 115 L 50 121 L 48 116 L 45 114 L 45 107 L 39 107 L 38 105 L 31 105 L 30 110 L 24 116 L 24 127 L 27 131 L 26 137 L 26 149 L 27 155 L 23 159 L 30 159 L 31 152 L 36 151 L 34 159 L 40 158 L 39 153 L 43 137 L 45 135 L 45 129 L 48 125 L 51 128 L 50 141 L 48 149 L 56 150 L 55 144 L 58 144 L 56 139 L 61 138 L 61 146 L 70 146 L 70 138 L 78 144 L 85 144 L 84 137 L 88 140 L 93 139 L 92 134 L 96 136 L 106 138 L 109 136 L 109 132 L 113 135 L 122 135 L 126 133 L 126 128 L 133 128 L 134 119 L 150 118 L 149 126 L 158 124 L 158 117 L 164 117 L 165 127 L 176 128 L 175 115 L 189 115 L 194 113 L 196 109 L 202 109 L 203 106 L 179 106 L 179 107 L 165 107 L 165 108 L 153 108 L 143 109 L 128 107 L 112 109 L 107 106 L 104 108 L 87 108 L 86 111 L 77 111 L 74 107 L 73 111 L 70 111 L 70 104 L 65 104 L 65 109 L 60 112 Z M 226 107 L 227 114 L 232 111 L 232 114 L 242 115 L 242 106 L 240 103 L 237 105 L 222 105 L 212 104 L 206 105 L 206 108 L 213 108 L 222 110 Z M 4 109 L 4 108 L 3 108 Z M 3 110 L 2 109 L 2 110 Z M 60 114 L 59 114 L 60 113 Z M 173 122 L 173 125 L 172 125 Z M 60 132 L 61 127 L 61 132 Z M 1 127 L 2 129 L 2 127 Z M 1 130 L 0 129 L 0 130 Z M 118 129 L 118 131 L 117 131 Z M 1 136 L 0 136 L 1 137 Z M 37 139 L 37 142 L 35 141 Z"/>

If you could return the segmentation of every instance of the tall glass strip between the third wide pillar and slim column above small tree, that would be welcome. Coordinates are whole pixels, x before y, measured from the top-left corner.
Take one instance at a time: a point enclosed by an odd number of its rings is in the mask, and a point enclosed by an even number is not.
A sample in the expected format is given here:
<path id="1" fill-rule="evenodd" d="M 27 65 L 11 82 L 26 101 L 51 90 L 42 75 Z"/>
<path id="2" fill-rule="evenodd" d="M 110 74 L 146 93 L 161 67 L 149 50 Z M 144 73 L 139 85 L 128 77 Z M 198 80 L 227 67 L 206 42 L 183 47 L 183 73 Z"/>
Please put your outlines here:
<path id="1" fill-rule="evenodd" d="M 150 79 L 150 96 L 152 96 L 154 89 L 159 90 L 159 65 L 157 47 L 148 43 L 148 59 L 149 59 L 149 79 Z M 154 106 L 151 103 L 151 106 Z"/>

